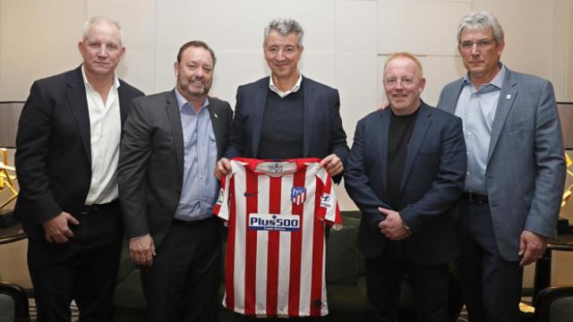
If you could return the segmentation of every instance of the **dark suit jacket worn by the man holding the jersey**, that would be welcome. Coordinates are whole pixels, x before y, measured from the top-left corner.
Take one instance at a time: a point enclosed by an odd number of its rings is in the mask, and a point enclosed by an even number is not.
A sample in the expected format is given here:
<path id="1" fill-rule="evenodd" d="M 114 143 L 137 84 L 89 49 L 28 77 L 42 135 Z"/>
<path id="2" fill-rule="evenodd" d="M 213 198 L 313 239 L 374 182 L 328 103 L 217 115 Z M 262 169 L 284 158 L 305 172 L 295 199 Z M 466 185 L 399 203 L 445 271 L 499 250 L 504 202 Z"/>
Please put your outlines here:
<path id="1" fill-rule="evenodd" d="M 303 157 L 327 157 L 334 153 L 346 163 L 348 146 L 340 118 L 338 90 L 303 77 Z M 225 157 L 257 157 L 269 77 L 240 86 L 236 91 L 235 119 Z M 339 181 L 339 179 L 338 179 Z"/>

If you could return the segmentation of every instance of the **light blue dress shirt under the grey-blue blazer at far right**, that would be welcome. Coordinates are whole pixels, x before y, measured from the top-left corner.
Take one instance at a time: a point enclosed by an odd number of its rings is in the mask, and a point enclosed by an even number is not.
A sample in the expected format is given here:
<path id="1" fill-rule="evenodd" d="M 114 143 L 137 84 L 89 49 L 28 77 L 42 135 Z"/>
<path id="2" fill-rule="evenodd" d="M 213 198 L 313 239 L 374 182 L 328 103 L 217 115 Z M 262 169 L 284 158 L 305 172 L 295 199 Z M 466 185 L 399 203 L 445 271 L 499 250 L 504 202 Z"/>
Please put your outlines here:
<path id="1" fill-rule="evenodd" d="M 464 78 L 464 87 L 458 97 L 456 115 L 464 124 L 464 138 L 467 149 L 466 191 L 487 194 L 485 169 L 487 153 L 492 138 L 492 125 L 495 111 L 500 99 L 501 86 L 506 68 L 501 65 L 500 72 L 489 83 L 475 89 L 469 80 Z"/>

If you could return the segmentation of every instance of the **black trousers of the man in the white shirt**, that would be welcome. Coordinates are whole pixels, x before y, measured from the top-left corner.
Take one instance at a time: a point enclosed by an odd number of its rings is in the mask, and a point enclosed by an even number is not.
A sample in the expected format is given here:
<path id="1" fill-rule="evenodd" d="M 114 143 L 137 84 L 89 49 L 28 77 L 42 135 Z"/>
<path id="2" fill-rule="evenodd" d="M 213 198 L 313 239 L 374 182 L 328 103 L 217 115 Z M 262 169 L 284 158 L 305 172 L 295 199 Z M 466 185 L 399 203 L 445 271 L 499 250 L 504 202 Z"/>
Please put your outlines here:
<path id="1" fill-rule="evenodd" d="M 109 321 L 123 225 L 118 202 L 72 214 L 74 237 L 64 244 L 30 240 L 28 265 L 38 321 L 70 321 L 75 300 L 81 322 Z"/>

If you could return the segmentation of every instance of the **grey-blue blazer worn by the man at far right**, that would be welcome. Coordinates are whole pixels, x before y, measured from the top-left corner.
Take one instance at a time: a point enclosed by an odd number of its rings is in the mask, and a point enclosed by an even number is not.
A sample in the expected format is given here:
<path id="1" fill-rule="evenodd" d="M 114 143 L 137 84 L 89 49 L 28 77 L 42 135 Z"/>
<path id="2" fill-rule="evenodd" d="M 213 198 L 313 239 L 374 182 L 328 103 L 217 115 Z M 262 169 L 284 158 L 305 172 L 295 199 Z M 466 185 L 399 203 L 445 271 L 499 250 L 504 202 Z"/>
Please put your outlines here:
<path id="1" fill-rule="evenodd" d="M 462 85 L 463 79 L 446 85 L 437 107 L 454 113 Z M 517 260 L 524 230 L 556 235 L 565 168 L 551 82 L 508 69 L 485 171 L 493 230 L 503 258 Z"/>

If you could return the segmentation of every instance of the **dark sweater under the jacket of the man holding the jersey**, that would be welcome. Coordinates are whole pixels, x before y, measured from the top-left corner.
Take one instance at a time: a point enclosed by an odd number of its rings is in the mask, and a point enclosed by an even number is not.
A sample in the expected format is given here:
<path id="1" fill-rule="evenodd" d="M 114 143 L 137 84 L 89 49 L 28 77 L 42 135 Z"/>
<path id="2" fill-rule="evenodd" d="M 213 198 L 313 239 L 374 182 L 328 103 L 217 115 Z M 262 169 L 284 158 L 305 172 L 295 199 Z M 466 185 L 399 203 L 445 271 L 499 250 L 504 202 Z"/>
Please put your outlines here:
<path id="1" fill-rule="evenodd" d="M 262 118 L 261 159 L 286 159 L 303 156 L 304 90 L 279 97 L 269 89 Z"/>

